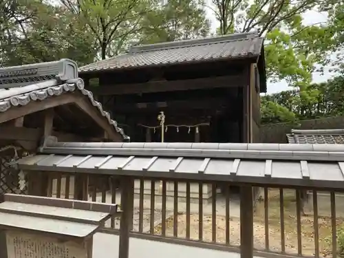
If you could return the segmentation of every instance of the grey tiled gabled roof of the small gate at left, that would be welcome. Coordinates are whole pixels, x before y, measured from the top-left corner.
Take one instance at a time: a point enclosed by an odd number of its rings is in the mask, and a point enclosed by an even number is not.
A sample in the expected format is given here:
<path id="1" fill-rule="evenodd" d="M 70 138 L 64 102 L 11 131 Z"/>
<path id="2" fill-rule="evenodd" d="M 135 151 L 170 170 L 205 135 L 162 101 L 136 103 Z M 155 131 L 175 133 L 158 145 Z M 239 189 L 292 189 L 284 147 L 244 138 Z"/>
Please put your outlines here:
<path id="1" fill-rule="evenodd" d="M 19 107 L 28 105 L 31 101 L 46 100 L 53 96 L 60 96 L 68 92 L 79 91 L 83 95 L 87 96 L 90 103 L 94 105 L 102 116 L 107 118 L 109 124 L 112 125 L 118 133 L 127 139 L 123 129 L 118 127 L 117 122 L 111 119 L 110 114 L 103 110 L 103 107 L 93 98 L 92 92 L 84 89 L 84 83 L 82 79 L 74 80 L 75 83 L 63 83 L 58 84 L 57 80 L 48 80 L 43 83 L 37 83 L 34 85 L 27 85 L 24 87 L 14 87 L 10 89 L 0 89 L 0 113 L 6 112 L 12 107 Z"/>

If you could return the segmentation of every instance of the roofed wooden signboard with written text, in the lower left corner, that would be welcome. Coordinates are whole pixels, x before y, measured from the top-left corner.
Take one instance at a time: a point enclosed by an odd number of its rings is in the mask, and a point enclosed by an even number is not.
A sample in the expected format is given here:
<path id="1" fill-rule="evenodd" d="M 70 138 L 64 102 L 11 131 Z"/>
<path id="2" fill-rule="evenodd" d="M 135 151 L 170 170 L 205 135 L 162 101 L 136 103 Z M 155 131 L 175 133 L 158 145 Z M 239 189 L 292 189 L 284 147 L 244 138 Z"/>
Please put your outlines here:
<path id="1" fill-rule="evenodd" d="M 0 258 L 92 258 L 93 235 L 116 204 L 0 196 Z"/>

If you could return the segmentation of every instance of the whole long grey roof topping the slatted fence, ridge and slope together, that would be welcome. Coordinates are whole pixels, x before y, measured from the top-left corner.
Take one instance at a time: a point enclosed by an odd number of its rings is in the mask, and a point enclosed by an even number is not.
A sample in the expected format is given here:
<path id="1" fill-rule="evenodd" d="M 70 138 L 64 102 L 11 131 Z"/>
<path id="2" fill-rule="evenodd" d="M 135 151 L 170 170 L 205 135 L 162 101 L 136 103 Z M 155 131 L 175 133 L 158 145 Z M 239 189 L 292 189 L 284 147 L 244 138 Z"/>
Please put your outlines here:
<path id="1" fill-rule="evenodd" d="M 344 145 L 54 142 L 18 161 L 25 171 L 344 188 Z M 324 171 L 326 173 L 324 173 Z"/>

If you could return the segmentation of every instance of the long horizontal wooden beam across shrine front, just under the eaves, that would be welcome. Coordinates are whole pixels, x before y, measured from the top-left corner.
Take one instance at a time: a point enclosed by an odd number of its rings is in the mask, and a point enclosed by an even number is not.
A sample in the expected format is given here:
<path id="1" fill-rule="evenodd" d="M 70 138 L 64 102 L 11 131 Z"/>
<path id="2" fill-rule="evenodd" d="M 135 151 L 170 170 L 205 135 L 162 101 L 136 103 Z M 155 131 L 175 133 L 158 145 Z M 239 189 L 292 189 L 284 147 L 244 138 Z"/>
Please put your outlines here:
<path id="1" fill-rule="evenodd" d="M 209 78 L 196 78 L 189 80 L 162 80 L 148 83 L 131 83 L 119 85 L 104 85 L 102 87 L 89 88 L 94 95 L 122 95 L 142 94 L 149 92 L 175 92 L 190 89 L 211 89 L 216 87 L 244 87 L 248 85 L 244 75 L 217 76 Z"/>

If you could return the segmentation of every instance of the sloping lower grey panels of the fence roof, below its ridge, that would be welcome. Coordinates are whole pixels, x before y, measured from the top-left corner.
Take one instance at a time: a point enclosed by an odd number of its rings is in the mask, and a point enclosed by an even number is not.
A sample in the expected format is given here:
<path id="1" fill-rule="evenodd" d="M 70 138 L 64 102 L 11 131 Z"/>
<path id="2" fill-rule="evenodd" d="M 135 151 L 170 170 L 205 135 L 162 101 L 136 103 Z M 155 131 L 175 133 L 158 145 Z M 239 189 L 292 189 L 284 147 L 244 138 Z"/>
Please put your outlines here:
<path id="1" fill-rule="evenodd" d="M 135 178 L 224 181 L 230 184 L 245 182 L 265 186 L 281 184 L 332 189 L 344 187 L 344 166 L 341 162 L 343 155 L 332 160 L 310 158 L 281 160 L 281 155 L 267 158 L 260 153 L 256 153 L 255 156 L 237 155 L 218 158 L 203 153 L 194 153 L 192 157 L 187 155 L 188 151 L 195 151 L 193 149 L 175 150 L 175 155 L 166 156 L 161 155 L 159 149 L 155 150 L 155 153 L 141 153 L 140 150 L 122 154 L 120 148 L 115 148 L 113 155 L 88 154 L 91 156 L 87 160 L 85 160 L 87 154 L 67 155 L 56 152 L 56 155 L 49 155 L 43 150 L 39 155 L 22 158 L 18 161 L 18 165 L 24 170 L 132 175 Z M 307 155 L 304 158 L 307 158 Z M 58 165 L 54 166 L 54 163 Z"/>

